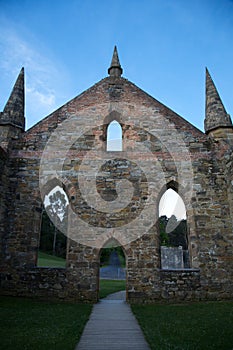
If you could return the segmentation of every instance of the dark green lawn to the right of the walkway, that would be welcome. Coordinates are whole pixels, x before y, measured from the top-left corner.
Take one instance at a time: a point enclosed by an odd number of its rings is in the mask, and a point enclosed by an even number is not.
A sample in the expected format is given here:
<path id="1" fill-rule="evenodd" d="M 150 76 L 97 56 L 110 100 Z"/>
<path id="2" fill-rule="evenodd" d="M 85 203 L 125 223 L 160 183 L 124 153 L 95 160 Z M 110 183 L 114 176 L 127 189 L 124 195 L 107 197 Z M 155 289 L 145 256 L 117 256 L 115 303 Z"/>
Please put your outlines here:
<path id="1" fill-rule="evenodd" d="M 233 303 L 132 305 L 152 350 L 232 350 Z"/>

